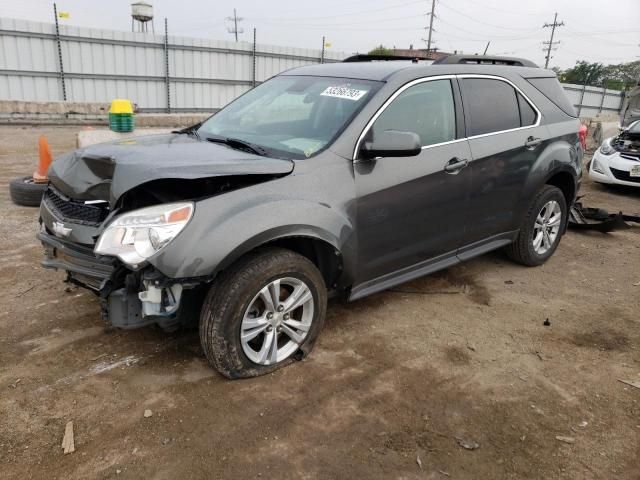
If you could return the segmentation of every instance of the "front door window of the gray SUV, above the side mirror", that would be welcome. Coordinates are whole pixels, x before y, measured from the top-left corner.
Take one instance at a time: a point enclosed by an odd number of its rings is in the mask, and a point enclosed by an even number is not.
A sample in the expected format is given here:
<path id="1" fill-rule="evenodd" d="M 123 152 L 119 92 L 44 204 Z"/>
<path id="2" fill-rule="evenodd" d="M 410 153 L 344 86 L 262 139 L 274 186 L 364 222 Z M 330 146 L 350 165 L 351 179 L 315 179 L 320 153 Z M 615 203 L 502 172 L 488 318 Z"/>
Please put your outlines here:
<path id="1" fill-rule="evenodd" d="M 422 82 L 407 88 L 377 118 L 369 135 L 403 130 L 420 136 L 422 146 L 456 138 L 456 113 L 449 80 Z"/>

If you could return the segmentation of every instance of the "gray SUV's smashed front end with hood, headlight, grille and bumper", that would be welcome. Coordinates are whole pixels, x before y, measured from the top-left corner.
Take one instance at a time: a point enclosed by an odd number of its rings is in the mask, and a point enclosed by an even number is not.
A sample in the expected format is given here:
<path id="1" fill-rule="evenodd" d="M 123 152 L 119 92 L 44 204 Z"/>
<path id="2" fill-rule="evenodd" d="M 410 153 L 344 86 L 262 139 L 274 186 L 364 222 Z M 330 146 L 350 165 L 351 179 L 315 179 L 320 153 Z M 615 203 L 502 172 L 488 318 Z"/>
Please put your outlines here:
<path id="1" fill-rule="evenodd" d="M 292 169 L 290 161 L 177 135 L 65 155 L 52 165 L 40 206 L 42 265 L 96 293 L 114 327 L 175 330 L 197 320 L 212 278 L 170 278 L 154 255 L 189 224 L 198 200 Z"/>

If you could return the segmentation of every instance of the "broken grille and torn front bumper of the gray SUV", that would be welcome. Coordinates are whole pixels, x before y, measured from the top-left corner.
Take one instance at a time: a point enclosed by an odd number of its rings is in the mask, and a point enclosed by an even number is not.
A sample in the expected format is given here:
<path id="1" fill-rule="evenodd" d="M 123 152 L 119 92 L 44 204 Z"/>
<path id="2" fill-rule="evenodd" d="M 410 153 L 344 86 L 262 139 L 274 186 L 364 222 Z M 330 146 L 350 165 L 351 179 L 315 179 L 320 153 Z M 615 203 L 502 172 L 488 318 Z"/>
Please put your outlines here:
<path id="1" fill-rule="evenodd" d="M 57 199 L 54 203 L 52 198 Z M 41 205 L 42 229 L 38 239 L 44 246 L 45 258 L 42 266 L 64 270 L 66 281 L 87 288 L 99 296 L 104 320 L 118 328 L 131 329 L 157 324 L 164 330 L 175 330 L 180 325 L 197 318 L 198 300 L 202 286 L 208 279 L 170 279 L 148 264 L 135 252 L 136 233 L 138 249 L 144 254 L 147 236 L 138 232 L 127 232 L 126 228 L 114 226 L 104 228 L 100 219 L 109 216 L 108 204 L 84 203 L 64 197 L 50 186 Z M 148 227 L 142 227 L 147 231 Z M 100 232 L 110 232 L 107 236 Z M 120 234 L 120 235 L 119 235 Z M 71 237 L 69 240 L 65 237 Z M 98 245 L 80 243 L 79 239 L 91 242 L 95 238 L 107 239 L 119 235 L 134 253 L 123 251 L 125 259 L 133 258 L 130 264 L 118 255 L 97 253 Z M 142 242 L 142 243 L 141 243 Z M 113 243 L 111 248 L 114 248 Z M 150 253 L 150 252 L 147 252 Z M 126 255 L 129 254 L 129 257 Z"/>

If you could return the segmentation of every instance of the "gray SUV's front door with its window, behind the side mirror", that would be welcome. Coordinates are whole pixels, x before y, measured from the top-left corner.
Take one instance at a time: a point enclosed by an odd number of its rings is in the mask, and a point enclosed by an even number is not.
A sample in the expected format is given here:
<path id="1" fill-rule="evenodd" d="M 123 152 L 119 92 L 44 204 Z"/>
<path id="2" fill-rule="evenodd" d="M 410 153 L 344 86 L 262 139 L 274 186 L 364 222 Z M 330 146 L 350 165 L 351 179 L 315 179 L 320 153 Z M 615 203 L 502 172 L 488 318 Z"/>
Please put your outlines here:
<path id="1" fill-rule="evenodd" d="M 385 130 L 410 131 L 423 148 L 415 157 L 356 160 L 356 283 L 454 255 L 461 244 L 470 150 L 457 133 L 452 82 L 424 79 L 401 88 L 365 134 L 366 141 Z"/>

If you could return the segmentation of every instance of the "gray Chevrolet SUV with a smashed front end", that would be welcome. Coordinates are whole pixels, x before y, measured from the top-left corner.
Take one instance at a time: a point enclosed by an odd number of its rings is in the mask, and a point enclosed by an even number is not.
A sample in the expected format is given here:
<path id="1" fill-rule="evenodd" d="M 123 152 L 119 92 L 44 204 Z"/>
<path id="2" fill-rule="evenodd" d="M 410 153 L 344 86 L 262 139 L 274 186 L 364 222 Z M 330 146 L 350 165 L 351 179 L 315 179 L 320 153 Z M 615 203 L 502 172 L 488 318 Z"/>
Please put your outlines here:
<path id="1" fill-rule="evenodd" d="M 43 265 L 115 327 L 199 318 L 208 360 L 239 378 L 308 354 L 330 296 L 503 247 L 528 266 L 553 254 L 581 178 L 553 72 L 350 60 L 287 71 L 194 127 L 57 158 Z"/>

